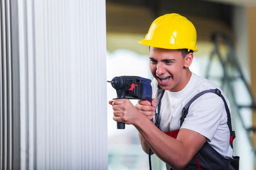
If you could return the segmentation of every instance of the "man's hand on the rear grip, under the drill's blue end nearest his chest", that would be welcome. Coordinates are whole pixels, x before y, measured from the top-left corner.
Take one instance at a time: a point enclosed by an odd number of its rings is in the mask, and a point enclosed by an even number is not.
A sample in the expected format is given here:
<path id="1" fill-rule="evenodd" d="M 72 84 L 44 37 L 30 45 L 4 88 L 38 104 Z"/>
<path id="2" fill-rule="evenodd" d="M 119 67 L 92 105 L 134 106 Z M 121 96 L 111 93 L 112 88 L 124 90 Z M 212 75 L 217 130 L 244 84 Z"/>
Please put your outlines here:
<path id="1" fill-rule="evenodd" d="M 154 116 L 154 111 L 156 110 L 157 99 L 152 99 L 152 102 L 148 102 L 147 100 L 138 100 L 138 103 L 135 107 L 143 114 L 145 114 L 148 119 L 152 119 Z"/>

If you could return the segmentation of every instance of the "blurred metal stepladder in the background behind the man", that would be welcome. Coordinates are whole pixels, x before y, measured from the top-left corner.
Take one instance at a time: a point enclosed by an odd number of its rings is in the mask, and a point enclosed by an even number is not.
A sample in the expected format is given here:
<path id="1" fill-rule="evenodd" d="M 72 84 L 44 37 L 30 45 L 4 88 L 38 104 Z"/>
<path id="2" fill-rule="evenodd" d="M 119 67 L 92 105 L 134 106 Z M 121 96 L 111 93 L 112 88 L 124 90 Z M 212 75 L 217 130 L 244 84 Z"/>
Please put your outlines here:
<path id="1" fill-rule="evenodd" d="M 246 130 L 247 138 L 250 141 L 250 146 L 252 148 L 253 154 L 254 154 L 254 162 L 256 163 L 256 150 L 255 146 L 253 144 L 253 140 L 251 139 L 251 135 L 253 132 L 256 132 L 256 127 L 248 127 L 246 123 L 243 120 L 242 116 L 242 109 L 247 108 L 251 109 L 251 111 L 256 111 L 256 103 L 255 99 L 253 97 L 252 90 L 250 88 L 250 85 L 247 83 L 238 60 L 236 59 L 234 49 L 230 43 L 230 40 L 221 33 L 213 33 L 211 35 L 211 40 L 214 45 L 214 50 L 209 56 L 208 65 L 206 68 L 206 79 L 218 79 L 221 81 L 221 89 L 223 89 L 225 86 L 229 90 L 229 94 L 231 95 L 231 98 L 233 98 L 233 107 L 236 108 L 239 119 L 241 120 L 241 124 Z M 227 45 L 227 53 L 226 55 L 221 54 L 219 45 L 220 41 L 224 42 L 225 45 Z M 212 63 L 214 62 L 214 57 L 217 57 L 218 62 L 221 64 L 221 68 L 223 69 L 223 74 L 221 76 L 211 76 L 210 75 L 210 69 L 212 66 Z M 242 82 L 242 85 L 244 86 L 245 90 L 247 91 L 248 97 L 250 98 L 250 104 L 240 104 L 236 97 L 236 91 L 234 88 L 234 82 L 239 80 Z"/>

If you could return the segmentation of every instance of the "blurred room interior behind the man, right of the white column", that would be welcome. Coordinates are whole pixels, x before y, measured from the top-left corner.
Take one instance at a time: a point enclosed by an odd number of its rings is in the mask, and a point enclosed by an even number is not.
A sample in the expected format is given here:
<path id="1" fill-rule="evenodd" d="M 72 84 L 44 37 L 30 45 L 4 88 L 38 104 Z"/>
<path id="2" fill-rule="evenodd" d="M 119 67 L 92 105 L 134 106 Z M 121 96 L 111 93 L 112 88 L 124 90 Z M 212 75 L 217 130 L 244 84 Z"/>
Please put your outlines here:
<path id="1" fill-rule="evenodd" d="M 241 170 L 253 170 L 255 6 L 254 0 L 106 0 L 107 79 L 121 75 L 152 79 L 148 47 L 138 41 L 160 15 L 178 13 L 187 17 L 195 25 L 198 44 L 190 69 L 221 86 L 229 97 L 233 128 L 238 136 L 234 155 L 241 157 Z M 111 85 L 107 88 L 111 100 L 116 92 Z M 108 106 L 109 170 L 148 170 L 148 155 L 141 149 L 137 130 L 129 125 L 125 130 L 117 130 L 112 113 Z M 166 168 L 156 156 L 152 157 L 152 166 L 157 170 Z"/>

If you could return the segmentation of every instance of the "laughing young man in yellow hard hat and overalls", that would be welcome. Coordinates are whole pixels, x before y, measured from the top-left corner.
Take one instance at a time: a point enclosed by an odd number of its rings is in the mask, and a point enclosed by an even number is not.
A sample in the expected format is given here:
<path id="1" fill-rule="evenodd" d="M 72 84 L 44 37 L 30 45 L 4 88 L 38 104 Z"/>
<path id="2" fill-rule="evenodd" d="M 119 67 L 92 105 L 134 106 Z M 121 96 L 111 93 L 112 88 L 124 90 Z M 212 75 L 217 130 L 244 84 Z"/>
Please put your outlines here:
<path id="1" fill-rule="evenodd" d="M 139 100 L 134 107 L 128 99 L 110 101 L 113 119 L 134 125 L 143 150 L 148 153 L 150 147 L 167 169 L 238 169 L 229 101 L 217 85 L 189 70 L 198 51 L 194 25 L 179 14 L 166 14 L 154 20 L 139 43 L 150 47 L 152 103 Z M 159 118 L 154 116 L 157 102 Z"/>

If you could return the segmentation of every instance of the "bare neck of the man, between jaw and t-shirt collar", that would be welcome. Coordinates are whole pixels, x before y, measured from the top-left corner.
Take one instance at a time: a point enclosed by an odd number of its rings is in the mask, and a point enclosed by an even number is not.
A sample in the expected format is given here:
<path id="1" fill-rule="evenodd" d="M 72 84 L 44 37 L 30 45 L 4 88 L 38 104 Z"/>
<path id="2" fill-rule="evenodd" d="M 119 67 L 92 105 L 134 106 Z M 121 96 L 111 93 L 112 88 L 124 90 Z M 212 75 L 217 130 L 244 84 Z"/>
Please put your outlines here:
<path id="1" fill-rule="evenodd" d="M 174 88 L 170 89 L 169 91 L 170 92 L 181 91 L 189 83 L 191 75 L 192 75 L 192 72 L 189 70 L 189 68 L 184 68 L 182 75 L 181 75 L 180 82 Z"/>

